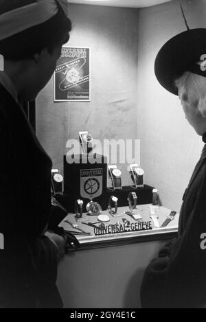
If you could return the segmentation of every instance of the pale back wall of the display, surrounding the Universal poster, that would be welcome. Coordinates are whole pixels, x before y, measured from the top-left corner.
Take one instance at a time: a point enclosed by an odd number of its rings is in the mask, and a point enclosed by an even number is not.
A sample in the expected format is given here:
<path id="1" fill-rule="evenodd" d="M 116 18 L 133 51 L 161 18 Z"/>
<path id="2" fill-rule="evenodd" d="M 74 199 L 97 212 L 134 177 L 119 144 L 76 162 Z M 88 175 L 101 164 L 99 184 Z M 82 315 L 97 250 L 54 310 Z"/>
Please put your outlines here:
<path id="1" fill-rule="evenodd" d="M 60 169 L 67 140 L 80 130 L 101 141 L 135 139 L 137 132 L 138 10 L 71 4 L 69 16 L 68 45 L 91 47 L 91 102 L 54 103 L 53 79 L 36 102 L 37 135 Z M 123 185 L 130 184 L 127 166 L 119 168 Z"/>

